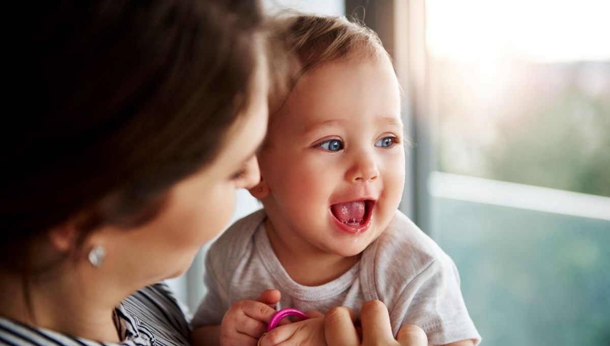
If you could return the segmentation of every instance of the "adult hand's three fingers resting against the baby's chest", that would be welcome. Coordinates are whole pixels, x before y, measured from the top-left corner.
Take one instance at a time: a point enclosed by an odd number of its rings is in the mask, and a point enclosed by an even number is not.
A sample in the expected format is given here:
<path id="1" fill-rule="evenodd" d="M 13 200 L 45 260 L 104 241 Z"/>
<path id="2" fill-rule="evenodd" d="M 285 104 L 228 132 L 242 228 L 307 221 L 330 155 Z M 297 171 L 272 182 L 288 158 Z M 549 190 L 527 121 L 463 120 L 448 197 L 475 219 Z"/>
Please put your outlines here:
<path id="1" fill-rule="evenodd" d="M 354 325 L 356 322 L 354 311 L 344 306 L 329 311 L 325 316 L 324 325 L 326 344 L 329 346 L 428 346 L 426 333 L 415 325 L 401 328 L 395 340 L 386 305 L 379 300 L 370 300 L 362 305 L 362 337 Z"/>

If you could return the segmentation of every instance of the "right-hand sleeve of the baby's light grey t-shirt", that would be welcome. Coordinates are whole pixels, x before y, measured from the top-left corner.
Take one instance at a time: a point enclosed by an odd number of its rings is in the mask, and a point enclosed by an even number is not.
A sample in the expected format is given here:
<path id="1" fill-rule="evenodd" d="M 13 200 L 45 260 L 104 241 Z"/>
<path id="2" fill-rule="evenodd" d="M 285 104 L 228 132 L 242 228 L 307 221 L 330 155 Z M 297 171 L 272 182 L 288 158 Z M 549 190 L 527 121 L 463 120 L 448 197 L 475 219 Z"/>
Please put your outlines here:
<path id="1" fill-rule="evenodd" d="M 432 345 L 474 339 L 481 341 L 468 315 L 455 264 L 441 253 L 404 288 L 392 314 L 401 325 L 418 325 Z"/>

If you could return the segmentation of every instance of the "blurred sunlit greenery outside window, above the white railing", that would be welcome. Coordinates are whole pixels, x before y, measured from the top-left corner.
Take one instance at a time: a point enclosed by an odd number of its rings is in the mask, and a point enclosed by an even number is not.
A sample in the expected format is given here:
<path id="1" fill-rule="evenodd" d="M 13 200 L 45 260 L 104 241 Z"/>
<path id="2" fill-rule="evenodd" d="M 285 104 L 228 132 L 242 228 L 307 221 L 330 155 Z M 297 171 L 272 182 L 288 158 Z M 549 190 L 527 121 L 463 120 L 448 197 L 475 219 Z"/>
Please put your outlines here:
<path id="1" fill-rule="evenodd" d="M 610 197 L 610 62 L 433 68 L 437 169 Z"/>

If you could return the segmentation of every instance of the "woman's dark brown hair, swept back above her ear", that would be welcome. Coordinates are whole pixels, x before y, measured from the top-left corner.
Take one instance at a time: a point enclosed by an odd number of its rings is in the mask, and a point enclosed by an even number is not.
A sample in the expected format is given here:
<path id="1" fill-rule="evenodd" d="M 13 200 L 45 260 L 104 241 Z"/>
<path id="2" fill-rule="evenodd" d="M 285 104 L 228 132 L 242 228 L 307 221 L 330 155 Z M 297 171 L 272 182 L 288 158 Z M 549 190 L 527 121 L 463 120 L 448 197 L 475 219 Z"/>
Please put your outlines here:
<path id="1" fill-rule="evenodd" d="M 4 47 L 18 67 L 0 148 L 0 267 L 22 273 L 32 240 L 74 216 L 82 239 L 156 216 L 248 107 L 262 46 L 253 0 L 28 5 Z"/>

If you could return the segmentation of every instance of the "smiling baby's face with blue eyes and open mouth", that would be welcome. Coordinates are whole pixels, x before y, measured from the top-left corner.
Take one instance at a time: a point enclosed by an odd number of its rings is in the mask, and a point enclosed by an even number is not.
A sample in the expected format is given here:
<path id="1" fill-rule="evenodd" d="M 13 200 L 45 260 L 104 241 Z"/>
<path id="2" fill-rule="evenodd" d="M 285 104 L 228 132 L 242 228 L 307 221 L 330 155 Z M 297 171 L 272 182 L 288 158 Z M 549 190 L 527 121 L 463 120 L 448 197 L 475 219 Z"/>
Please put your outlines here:
<path id="1" fill-rule="evenodd" d="M 330 62 L 296 84 L 268 132 L 265 210 L 284 244 L 353 256 L 386 228 L 404 184 L 398 81 L 387 58 Z"/>

